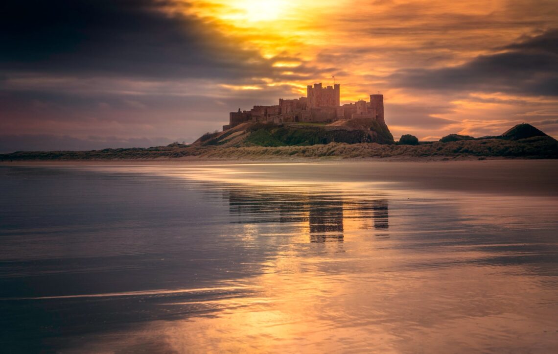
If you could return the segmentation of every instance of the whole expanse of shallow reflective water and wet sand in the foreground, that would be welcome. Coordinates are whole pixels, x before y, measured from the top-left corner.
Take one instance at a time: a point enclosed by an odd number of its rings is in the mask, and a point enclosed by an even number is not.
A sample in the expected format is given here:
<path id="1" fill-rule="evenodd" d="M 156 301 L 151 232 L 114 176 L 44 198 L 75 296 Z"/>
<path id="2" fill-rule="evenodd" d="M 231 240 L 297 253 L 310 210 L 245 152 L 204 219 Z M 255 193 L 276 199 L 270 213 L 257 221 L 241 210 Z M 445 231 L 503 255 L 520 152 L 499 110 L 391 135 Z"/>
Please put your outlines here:
<path id="1" fill-rule="evenodd" d="M 555 161 L 0 166 L 7 352 L 556 352 Z"/>

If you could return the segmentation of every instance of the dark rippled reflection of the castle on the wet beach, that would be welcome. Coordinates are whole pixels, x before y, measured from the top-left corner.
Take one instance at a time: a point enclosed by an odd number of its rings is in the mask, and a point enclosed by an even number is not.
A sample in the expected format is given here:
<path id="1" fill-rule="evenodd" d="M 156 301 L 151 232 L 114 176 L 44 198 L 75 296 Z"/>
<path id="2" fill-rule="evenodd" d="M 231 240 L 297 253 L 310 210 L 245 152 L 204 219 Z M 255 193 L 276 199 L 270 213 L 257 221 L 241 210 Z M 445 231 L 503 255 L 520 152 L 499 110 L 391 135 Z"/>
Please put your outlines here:
<path id="1" fill-rule="evenodd" d="M 372 220 L 373 228 L 383 232 L 389 227 L 386 199 L 350 199 L 339 191 L 308 188 L 296 193 L 277 187 L 229 189 L 224 198 L 229 200 L 230 213 L 240 217 L 240 223 L 308 222 L 310 242 L 343 241 L 344 221 L 348 219 Z"/>

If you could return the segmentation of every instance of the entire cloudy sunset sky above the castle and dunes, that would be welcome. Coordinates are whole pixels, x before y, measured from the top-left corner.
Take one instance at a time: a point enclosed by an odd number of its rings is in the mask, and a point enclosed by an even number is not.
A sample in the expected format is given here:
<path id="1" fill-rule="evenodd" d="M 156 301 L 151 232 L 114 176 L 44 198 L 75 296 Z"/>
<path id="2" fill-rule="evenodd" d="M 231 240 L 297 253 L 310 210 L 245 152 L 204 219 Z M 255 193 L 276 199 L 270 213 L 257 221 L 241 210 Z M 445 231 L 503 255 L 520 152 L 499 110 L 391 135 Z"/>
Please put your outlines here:
<path id="1" fill-rule="evenodd" d="M 558 137 L 556 0 L 6 0 L 0 152 L 193 142 L 341 85 L 398 139 Z"/>

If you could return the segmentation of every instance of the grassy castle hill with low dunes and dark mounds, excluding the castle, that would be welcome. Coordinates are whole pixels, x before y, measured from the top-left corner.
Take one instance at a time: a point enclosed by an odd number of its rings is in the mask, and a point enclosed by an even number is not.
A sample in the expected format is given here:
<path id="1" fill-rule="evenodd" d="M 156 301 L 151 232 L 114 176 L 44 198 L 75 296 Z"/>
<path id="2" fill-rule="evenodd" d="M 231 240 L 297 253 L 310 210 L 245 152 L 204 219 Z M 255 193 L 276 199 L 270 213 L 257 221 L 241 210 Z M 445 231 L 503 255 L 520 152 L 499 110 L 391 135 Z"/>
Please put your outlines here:
<path id="1" fill-rule="evenodd" d="M 0 161 L 558 159 L 558 141 L 527 123 L 516 125 L 499 136 L 474 138 L 450 134 L 434 142 L 419 142 L 415 136 L 403 135 L 396 143 L 387 126 L 384 128 L 374 128 L 372 137 L 368 130 L 307 131 L 243 123 L 226 132 L 206 133 L 191 145 L 175 142 L 147 148 L 18 151 L 0 154 Z"/>

